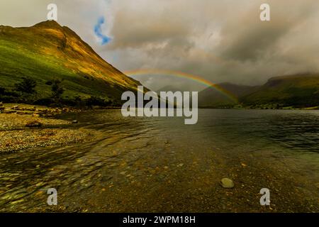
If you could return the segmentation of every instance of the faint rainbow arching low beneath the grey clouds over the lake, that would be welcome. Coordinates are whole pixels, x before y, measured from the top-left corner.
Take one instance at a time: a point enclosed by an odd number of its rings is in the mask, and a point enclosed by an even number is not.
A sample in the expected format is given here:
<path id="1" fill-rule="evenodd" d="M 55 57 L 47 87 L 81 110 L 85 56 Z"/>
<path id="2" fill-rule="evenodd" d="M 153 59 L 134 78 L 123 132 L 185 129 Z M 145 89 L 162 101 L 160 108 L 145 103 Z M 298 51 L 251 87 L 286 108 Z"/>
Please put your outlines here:
<path id="1" fill-rule="evenodd" d="M 206 87 L 213 87 L 216 89 L 216 91 L 224 94 L 225 96 L 228 96 L 228 98 L 232 99 L 235 101 L 235 103 L 238 102 L 237 97 L 228 92 L 228 90 L 223 89 L 223 87 L 220 87 L 218 84 L 214 84 L 207 79 L 203 79 L 201 77 L 198 77 L 194 74 L 189 74 L 185 72 L 178 72 L 178 71 L 173 71 L 173 70 L 129 70 L 125 71 L 124 74 L 127 74 L 129 76 L 145 76 L 145 75 L 158 75 L 158 76 L 168 76 L 168 77 L 180 77 L 184 79 L 189 79 L 194 82 L 200 83 L 205 85 Z"/>

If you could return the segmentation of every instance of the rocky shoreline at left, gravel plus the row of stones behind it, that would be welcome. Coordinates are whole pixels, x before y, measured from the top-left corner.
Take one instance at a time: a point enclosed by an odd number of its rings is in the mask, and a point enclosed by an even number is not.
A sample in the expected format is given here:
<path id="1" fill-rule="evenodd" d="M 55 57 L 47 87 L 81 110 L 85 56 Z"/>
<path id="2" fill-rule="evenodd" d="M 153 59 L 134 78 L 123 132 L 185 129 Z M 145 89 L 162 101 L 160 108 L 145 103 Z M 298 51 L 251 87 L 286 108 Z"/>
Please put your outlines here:
<path id="1" fill-rule="evenodd" d="M 71 111 L 79 110 L 0 104 L 0 153 L 66 145 L 93 138 L 92 131 L 70 127 L 72 123 L 77 123 L 77 120 L 64 121 L 52 118 Z"/>

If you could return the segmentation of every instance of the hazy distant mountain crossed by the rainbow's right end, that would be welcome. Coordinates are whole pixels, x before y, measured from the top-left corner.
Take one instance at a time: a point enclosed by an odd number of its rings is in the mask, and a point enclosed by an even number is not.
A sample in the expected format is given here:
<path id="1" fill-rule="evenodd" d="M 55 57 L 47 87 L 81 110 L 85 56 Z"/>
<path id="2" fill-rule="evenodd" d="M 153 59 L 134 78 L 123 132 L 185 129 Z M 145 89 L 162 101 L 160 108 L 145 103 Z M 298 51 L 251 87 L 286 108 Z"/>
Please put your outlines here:
<path id="1" fill-rule="evenodd" d="M 239 99 L 245 94 L 250 94 L 258 87 L 237 85 L 231 83 L 217 84 L 218 87 L 232 94 L 235 99 Z M 214 87 L 208 87 L 198 93 L 198 106 L 200 107 L 231 107 L 237 104 L 237 101 L 230 98 L 225 92 L 220 92 Z"/>

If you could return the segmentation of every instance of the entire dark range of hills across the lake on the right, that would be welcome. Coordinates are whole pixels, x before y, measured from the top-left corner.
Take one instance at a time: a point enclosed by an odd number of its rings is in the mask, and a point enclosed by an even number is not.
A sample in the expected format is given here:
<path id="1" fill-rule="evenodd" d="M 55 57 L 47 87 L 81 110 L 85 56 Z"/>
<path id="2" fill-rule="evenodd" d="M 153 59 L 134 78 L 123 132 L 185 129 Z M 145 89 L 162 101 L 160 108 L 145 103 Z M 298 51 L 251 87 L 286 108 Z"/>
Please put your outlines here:
<path id="1" fill-rule="evenodd" d="M 319 106 L 319 74 L 272 77 L 266 84 L 256 87 L 230 83 L 218 85 L 233 94 L 237 101 L 208 87 L 199 92 L 198 106 L 223 108 L 241 105 L 266 109 Z"/>

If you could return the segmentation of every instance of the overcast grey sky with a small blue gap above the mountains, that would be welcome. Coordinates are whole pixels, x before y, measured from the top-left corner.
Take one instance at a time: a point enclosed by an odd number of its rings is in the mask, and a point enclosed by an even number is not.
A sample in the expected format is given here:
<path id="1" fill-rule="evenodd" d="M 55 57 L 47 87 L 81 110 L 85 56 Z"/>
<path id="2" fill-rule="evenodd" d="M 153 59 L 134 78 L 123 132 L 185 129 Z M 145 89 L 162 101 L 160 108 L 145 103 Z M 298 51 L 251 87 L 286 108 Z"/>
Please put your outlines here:
<path id="1" fill-rule="evenodd" d="M 318 0 L 1 0 L 0 24 L 45 21 L 78 33 L 125 72 L 176 70 L 211 82 L 261 84 L 269 77 L 319 71 Z M 259 6 L 270 5 L 271 21 Z M 202 89 L 186 79 L 135 77 L 151 89 Z"/>

